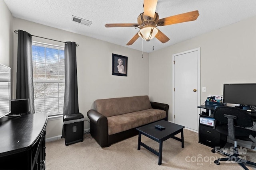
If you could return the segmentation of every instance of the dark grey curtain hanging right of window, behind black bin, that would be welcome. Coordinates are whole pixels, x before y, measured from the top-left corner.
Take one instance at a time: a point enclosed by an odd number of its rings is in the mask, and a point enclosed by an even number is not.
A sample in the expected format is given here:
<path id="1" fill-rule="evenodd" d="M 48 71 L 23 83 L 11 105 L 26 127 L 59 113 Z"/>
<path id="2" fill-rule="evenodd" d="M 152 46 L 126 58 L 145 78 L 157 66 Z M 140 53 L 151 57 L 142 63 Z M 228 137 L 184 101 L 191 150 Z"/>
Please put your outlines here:
<path id="1" fill-rule="evenodd" d="M 66 42 L 64 48 L 65 55 L 65 94 L 64 110 L 65 115 L 79 113 L 78 92 L 77 92 L 77 71 L 76 71 L 76 42 Z M 64 136 L 64 127 L 62 128 Z"/>

